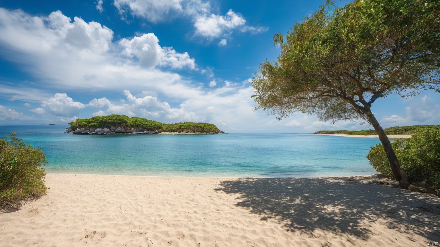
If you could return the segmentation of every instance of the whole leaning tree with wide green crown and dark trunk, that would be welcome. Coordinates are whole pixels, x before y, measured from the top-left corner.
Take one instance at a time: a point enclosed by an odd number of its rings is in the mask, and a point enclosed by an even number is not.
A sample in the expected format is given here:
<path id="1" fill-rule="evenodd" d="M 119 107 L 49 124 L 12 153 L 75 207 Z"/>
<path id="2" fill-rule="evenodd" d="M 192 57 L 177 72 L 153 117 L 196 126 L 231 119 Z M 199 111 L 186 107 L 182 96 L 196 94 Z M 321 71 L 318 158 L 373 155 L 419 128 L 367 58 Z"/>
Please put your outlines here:
<path id="1" fill-rule="evenodd" d="M 389 94 L 439 91 L 440 3 L 358 0 L 340 8 L 327 1 L 274 43 L 278 61 L 261 63 L 252 81 L 256 109 L 278 119 L 299 111 L 371 124 L 400 187 L 414 189 L 371 105 Z"/>

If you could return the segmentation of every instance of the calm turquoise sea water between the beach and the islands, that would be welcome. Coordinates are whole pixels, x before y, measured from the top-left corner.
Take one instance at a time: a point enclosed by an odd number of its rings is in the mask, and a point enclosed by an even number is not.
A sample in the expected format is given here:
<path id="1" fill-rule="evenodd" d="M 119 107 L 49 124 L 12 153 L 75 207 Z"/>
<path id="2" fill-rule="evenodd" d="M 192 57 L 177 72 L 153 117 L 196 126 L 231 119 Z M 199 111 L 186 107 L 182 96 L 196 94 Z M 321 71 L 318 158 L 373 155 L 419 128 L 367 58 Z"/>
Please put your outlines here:
<path id="1" fill-rule="evenodd" d="M 319 177 L 376 172 L 377 138 L 315 134 L 74 135 L 56 126 L 0 126 L 43 148 L 48 173 L 202 177 Z"/>

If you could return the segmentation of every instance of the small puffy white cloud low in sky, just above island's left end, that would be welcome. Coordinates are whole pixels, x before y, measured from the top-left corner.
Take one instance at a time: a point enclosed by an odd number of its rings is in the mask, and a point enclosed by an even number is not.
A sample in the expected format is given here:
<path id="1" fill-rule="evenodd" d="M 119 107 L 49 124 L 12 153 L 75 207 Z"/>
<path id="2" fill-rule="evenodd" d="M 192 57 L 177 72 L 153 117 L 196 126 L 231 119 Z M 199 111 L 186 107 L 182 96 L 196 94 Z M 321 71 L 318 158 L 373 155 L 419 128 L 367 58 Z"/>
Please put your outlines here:
<path id="1" fill-rule="evenodd" d="M 81 102 L 75 102 L 65 93 L 57 93 L 54 97 L 42 102 L 41 106 L 47 112 L 55 116 L 75 116 L 80 113 L 80 110 L 85 108 Z M 38 108 L 37 108 L 38 109 Z M 35 110 L 37 110 L 35 109 Z M 41 111 L 41 110 L 38 110 Z M 41 114 L 41 113 L 40 113 Z"/>

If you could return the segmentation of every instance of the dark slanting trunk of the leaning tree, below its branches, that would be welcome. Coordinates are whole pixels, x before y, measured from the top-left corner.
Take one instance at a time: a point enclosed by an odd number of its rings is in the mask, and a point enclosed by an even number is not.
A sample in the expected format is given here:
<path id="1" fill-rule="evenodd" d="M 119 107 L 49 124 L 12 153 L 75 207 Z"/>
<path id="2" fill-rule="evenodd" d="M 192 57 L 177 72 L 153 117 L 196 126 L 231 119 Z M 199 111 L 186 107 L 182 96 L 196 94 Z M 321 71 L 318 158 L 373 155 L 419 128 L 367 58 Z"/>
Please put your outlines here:
<path id="1" fill-rule="evenodd" d="M 394 150 L 392 150 L 391 142 L 389 142 L 389 139 L 387 135 L 385 134 L 385 131 L 380 126 L 378 120 L 373 115 L 371 111 L 367 111 L 368 119 L 370 120 L 370 124 L 374 127 L 374 130 L 379 135 L 379 140 L 382 143 L 382 146 L 384 147 L 386 156 L 389 160 L 389 166 L 391 167 L 392 174 L 394 177 L 396 177 L 396 180 L 399 181 L 400 188 L 402 189 L 412 189 L 408 188 L 411 186 L 411 181 L 408 175 L 402 171 L 400 168 L 399 160 L 397 160 L 396 153 L 394 153 Z M 413 187 L 413 186 L 411 186 Z"/>

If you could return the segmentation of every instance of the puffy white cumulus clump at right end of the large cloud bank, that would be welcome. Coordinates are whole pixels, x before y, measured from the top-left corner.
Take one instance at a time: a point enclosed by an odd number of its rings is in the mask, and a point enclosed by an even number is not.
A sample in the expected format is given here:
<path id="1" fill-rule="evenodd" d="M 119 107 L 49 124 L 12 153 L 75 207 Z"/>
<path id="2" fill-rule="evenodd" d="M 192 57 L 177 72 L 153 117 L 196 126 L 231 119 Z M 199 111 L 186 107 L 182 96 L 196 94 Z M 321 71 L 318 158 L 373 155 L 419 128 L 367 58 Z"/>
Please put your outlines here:
<path id="1" fill-rule="evenodd" d="M 190 58 L 187 52 L 178 53 L 172 47 L 161 47 L 159 39 L 154 33 L 143 34 L 131 40 L 126 38 L 119 41 L 124 47 L 123 54 L 128 57 L 135 56 L 144 68 L 153 68 L 156 65 L 169 66 L 173 69 L 196 70 L 195 59 Z"/>

